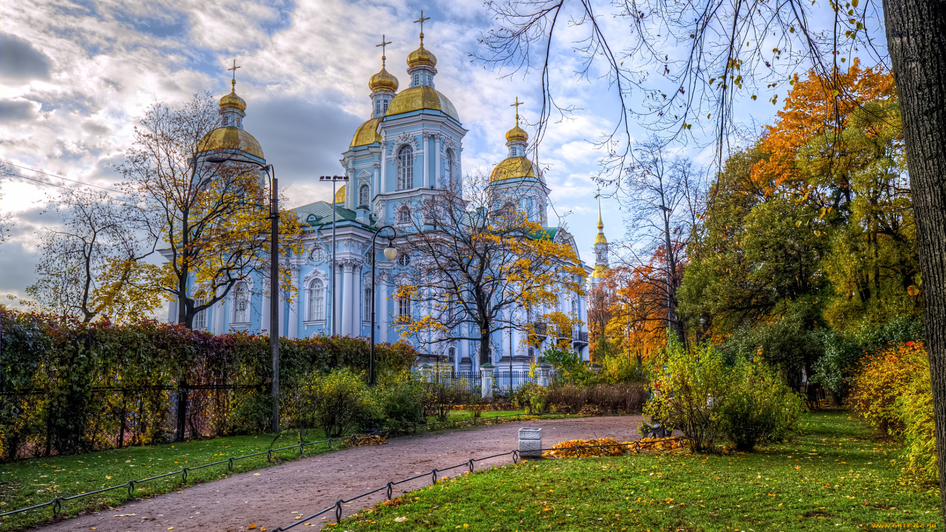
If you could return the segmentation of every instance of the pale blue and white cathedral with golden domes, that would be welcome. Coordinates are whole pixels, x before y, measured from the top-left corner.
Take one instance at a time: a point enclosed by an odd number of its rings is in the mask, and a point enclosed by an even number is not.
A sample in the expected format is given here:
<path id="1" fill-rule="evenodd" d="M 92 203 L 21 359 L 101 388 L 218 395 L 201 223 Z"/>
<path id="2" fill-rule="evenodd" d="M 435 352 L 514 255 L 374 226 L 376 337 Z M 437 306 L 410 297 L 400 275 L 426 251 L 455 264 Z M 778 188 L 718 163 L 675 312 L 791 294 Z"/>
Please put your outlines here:
<path id="1" fill-rule="evenodd" d="M 372 297 L 372 237 L 384 225 L 406 226 L 411 204 L 462 183 L 467 131 L 457 109 L 435 88 L 437 58 L 424 47 L 423 26 L 420 46 L 407 58 L 409 87 L 398 92 L 399 81 L 387 71 L 386 59 L 382 48 L 381 70 L 368 80 L 372 112 L 342 153 L 347 180 L 335 194 L 334 204 L 315 202 L 293 209 L 305 228 L 306 253 L 283 259 L 297 292 L 279 302 L 280 335 L 301 338 L 334 332 L 367 338 L 375 307 L 376 341 L 396 342 L 399 335 L 392 327 L 394 320 L 418 312 L 394 297 L 398 280 L 412 275 L 411 257 L 406 255 L 388 261 L 376 250 L 376 291 Z M 236 96 L 236 82 L 231 93 L 220 98 L 219 107 L 222 125 L 201 140 L 201 150 L 228 149 L 265 164 L 260 143 L 243 128 L 246 102 Z M 545 225 L 550 189 L 540 169 L 527 157 L 529 135 L 518 126 L 518 114 L 516 117 L 516 126 L 505 135 L 508 157 L 493 168 L 488 186 L 497 196 L 513 198 L 526 206 L 534 213 L 534 221 Z M 598 227 L 596 265 L 593 269 L 583 265 L 594 278 L 607 268 L 607 240 L 600 214 Z M 548 227 L 547 234 L 575 245 L 564 227 Z M 261 278 L 240 282 L 225 299 L 202 310 L 194 327 L 214 333 L 269 333 L 271 300 L 264 284 Z M 565 295 L 560 306 L 587 322 L 584 296 Z M 176 316 L 175 307 L 172 303 L 171 317 Z M 468 332 L 458 331 L 457 335 L 478 336 Z M 490 360 L 478 360 L 478 342 L 482 341 L 489 342 Z M 440 362 L 466 371 L 492 363 L 503 369 L 525 371 L 550 342 L 552 339 L 546 339 L 545 346 L 526 346 L 523 332 L 498 331 L 489 339 L 438 344 L 437 352 L 422 353 L 418 364 Z M 587 326 L 573 331 L 570 346 L 586 361 L 587 343 Z"/>

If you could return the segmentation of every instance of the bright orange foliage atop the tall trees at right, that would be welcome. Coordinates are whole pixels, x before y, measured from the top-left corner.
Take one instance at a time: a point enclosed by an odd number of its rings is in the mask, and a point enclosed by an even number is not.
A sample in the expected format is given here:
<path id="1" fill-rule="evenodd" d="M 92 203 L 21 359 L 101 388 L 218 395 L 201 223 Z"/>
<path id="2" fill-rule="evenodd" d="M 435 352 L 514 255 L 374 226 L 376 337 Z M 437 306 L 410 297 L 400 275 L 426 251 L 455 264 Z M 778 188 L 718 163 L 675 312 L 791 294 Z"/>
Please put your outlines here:
<path id="1" fill-rule="evenodd" d="M 889 72 L 863 68 L 857 60 L 847 72 L 838 71 L 835 80 L 824 80 L 810 72 L 807 79 L 799 80 L 796 75 L 794 81 L 785 107 L 777 114 L 778 121 L 766 127 L 760 142 L 760 148 L 770 157 L 752 168 L 753 186 L 765 195 L 777 191 L 810 192 L 812 184 L 795 164 L 798 149 L 818 135 L 840 132 L 847 127 L 850 114 L 865 102 L 896 96 Z M 837 146 L 835 150 L 843 151 L 844 147 Z"/>

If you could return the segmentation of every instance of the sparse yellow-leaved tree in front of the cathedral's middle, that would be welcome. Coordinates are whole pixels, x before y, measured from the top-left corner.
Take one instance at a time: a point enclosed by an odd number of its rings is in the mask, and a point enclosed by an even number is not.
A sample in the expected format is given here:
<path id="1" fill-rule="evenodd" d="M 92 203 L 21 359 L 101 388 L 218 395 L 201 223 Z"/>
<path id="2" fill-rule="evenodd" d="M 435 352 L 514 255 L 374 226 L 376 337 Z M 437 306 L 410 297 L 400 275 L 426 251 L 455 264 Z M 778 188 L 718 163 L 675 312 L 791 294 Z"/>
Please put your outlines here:
<path id="1" fill-rule="evenodd" d="M 481 363 L 498 333 L 517 330 L 531 343 L 540 333 L 570 340 L 582 322 L 562 306 L 584 294 L 586 275 L 574 241 L 503 202 L 485 176 L 464 181 L 465 194 L 457 186 L 431 191 L 398 229 L 398 253 L 410 257 L 416 275 L 398 282 L 395 298 L 411 301 L 415 315 L 395 325 L 429 351 L 478 341 Z"/>

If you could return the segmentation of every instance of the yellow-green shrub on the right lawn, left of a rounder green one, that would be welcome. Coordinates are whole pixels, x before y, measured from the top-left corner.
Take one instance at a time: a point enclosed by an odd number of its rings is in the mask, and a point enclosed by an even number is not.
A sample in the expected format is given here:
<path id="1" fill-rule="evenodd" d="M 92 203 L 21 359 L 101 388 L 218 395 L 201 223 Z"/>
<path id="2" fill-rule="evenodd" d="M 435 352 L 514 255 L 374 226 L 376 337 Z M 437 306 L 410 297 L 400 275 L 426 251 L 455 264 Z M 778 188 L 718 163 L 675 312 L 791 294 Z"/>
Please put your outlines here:
<path id="1" fill-rule="evenodd" d="M 673 342 L 663 362 L 663 372 L 651 381 L 654 397 L 644 414 L 682 431 L 692 452 L 714 452 L 722 399 L 732 385 L 722 353 L 709 344 L 688 350 Z"/>

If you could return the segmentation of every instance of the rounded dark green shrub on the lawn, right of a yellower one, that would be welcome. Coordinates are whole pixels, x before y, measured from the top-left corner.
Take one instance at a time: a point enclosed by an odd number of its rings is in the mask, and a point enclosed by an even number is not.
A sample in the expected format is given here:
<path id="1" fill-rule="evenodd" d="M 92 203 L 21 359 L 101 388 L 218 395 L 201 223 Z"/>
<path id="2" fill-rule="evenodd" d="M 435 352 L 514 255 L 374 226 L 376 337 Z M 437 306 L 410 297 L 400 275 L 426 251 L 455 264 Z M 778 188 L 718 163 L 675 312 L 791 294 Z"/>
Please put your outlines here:
<path id="1" fill-rule="evenodd" d="M 752 451 L 760 440 L 781 441 L 804 413 L 804 401 L 768 364 L 740 360 L 732 368 L 720 430 L 740 451 Z"/>

